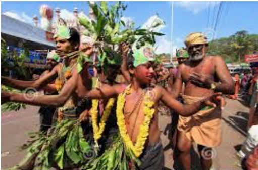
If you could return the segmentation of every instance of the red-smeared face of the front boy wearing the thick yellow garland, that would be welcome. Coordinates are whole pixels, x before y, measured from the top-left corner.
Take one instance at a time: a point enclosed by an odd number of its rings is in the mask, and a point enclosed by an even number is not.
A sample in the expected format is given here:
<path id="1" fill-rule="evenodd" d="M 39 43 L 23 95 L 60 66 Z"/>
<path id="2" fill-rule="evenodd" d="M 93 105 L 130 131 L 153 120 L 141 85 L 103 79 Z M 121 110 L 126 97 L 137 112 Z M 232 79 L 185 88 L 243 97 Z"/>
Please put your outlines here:
<path id="1" fill-rule="evenodd" d="M 154 78 L 154 65 L 152 62 L 140 64 L 133 69 L 133 74 L 140 84 L 150 84 Z"/>

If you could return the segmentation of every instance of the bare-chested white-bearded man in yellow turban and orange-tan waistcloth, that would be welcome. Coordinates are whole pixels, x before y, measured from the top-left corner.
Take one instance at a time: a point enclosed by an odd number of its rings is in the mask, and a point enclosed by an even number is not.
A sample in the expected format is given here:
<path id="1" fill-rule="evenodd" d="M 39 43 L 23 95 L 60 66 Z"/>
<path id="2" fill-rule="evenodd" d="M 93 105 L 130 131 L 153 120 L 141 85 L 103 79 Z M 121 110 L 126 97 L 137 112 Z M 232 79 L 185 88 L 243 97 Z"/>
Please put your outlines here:
<path id="1" fill-rule="evenodd" d="M 203 99 L 214 92 L 233 94 L 234 82 L 223 58 L 206 55 L 208 43 L 205 35 L 199 32 L 190 33 L 184 43 L 189 60 L 178 67 L 181 74 L 174 84 L 175 96 L 181 92 L 183 82 L 185 90 L 182 97 L 187 104 Z M 203 153 L 212 152 L 212 147 L 221 143 L 221 109 L 224 106 L 224 100 L 221 96 L 218 100 L 221 103 L 216 104 L 215 108 L 203 107 L 192 116 L 179 116 L 176 146 L 184 169 L 191 167 L 192 142 L 198 144 L 202 169 L 211 168 L 212 154 L 208 156 Z"/>

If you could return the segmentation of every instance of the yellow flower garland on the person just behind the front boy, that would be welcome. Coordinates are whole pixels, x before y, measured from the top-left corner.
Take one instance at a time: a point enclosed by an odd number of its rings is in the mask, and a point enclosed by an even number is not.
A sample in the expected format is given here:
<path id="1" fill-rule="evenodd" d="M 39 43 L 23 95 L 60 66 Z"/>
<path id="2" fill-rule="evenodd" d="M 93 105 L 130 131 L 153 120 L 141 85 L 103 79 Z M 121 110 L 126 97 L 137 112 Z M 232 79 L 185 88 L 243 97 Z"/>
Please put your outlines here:
<path id="1" fill-rule="evenodd" d="M 98 100 L 92 100 L 92 108 L 90 109 L 91 119 L 92 119 L 92 126 L 93 126 L 93 137 L 95 140 L 95 143 L 97 144 L 98 139 L 101 137 L 101 134 L 105 130 L 106 121 L 109 118 L 109 115 L 111 113 L 111 109 L 115 103 L 115 98 L 109 99 L 105 110 L 103 112 L 103 115 L 101 116 L 99 124 L 97 124 L 97 116 L 98 116 Z"/>

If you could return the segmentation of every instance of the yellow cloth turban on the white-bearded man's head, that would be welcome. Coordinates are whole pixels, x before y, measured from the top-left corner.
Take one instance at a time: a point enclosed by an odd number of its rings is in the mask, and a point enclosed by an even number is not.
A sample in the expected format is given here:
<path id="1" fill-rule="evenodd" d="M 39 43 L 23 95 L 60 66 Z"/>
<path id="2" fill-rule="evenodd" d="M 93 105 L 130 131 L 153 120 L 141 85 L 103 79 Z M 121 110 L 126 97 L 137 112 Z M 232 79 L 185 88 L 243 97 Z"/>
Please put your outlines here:
<path id="1" fill-rule="evenodd" d="M 194 32 L 190 33 L 186 38 L 185 38 L 185 46 L 189 47 L 190 45 L 200 45 L 200 44 L 207 44 L 207 38 L 205 37 L 204 34 L 200 32 Z"/>

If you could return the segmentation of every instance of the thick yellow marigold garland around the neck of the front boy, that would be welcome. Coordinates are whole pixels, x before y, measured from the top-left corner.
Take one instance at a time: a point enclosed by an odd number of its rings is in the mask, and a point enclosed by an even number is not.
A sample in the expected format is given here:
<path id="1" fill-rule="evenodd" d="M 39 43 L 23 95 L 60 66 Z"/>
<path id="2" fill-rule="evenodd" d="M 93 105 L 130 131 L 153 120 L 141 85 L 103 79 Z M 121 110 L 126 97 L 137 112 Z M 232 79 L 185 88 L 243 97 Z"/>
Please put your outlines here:
<path id="1" fill-rule="evenodd" d="M 139 135 L 137 137 L 135 145 L 131 141 L 126 125 L 125 125 L 125 117 L 124 117 L 124 105 L 125 105 L 125 96 L 130 94 L 130 86 L 127 87 L 124 93 L 120 94 L 118 96 L 117 100 L 117 124 L 119 127 L 120 135 L 123 138 L 123 141 L 126 145 L 127 148 L 130 148 L 135 156 L 139 157 L 144 149 L 145 142 L 148 138 L 149 135 L 149 124 L 150 120 L 153 117 L 153 114 L 155 112 L 153 106 L 154 102 L 151 101 L 149 93 L 147 93 L 146 100 L 144 100 L 144 106 L 143 106 L 143 111 L 144 111 L 144 122 L 140 126 L 139 130 Z"/>

